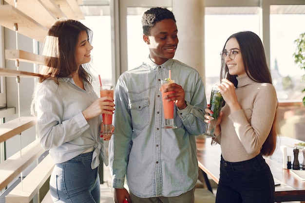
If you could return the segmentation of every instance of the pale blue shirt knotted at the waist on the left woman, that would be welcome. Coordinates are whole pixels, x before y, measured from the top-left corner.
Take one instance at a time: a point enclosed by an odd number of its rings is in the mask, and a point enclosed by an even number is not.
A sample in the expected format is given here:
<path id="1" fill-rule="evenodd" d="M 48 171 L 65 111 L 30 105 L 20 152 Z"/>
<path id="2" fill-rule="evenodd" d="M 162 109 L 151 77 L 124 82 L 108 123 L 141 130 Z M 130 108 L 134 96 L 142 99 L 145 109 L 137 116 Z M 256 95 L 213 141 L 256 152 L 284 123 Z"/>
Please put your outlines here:
<path id="1" fill-rule="evenodd" d="M 102 116 L 86 121 L 82 111 L 98 97 L 91 85 L 84 82 L 85 90 L 77 87 L 72 78 L 47 79 L 39 83 L 35 92 L 40 144 L 55 164 L 68 161 L 94 147 L 92 168 L 99 165 L 101 153 L 106 166 L 108 157 L 100 141 Z"/>

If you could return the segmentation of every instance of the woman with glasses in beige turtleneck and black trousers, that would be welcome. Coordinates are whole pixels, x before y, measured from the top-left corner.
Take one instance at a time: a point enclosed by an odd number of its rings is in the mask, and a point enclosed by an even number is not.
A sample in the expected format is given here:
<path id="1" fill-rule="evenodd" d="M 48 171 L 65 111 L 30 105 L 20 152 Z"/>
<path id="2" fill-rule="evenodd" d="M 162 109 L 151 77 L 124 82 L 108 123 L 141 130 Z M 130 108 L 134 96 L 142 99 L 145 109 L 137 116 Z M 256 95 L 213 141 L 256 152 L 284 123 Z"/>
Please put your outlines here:
<path id="1" fill-rule="evenodd" d="M 276 147 L 277 96 L 262 41 L 249 31 L 235 33 L 221 58 L 225 104 L 212 141 L 222 150 L 216 203 L 274 203 L 274 180 L 263 155 Z M 205 117 L 207 123 L 212 119 Z"/>

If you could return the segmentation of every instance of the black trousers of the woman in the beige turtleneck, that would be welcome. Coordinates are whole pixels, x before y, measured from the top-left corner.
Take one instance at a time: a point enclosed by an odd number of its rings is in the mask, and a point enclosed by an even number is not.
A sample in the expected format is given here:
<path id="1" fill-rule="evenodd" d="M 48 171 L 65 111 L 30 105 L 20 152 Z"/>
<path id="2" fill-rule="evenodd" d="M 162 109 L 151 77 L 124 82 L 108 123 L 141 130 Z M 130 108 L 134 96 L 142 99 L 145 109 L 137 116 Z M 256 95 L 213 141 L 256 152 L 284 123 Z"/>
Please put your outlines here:
<path id="1" fill-rule="evenodd" d="M 216 203 L 274 203 L 274 180 L 262 155 L 243 162 L 221 156 Z"/>

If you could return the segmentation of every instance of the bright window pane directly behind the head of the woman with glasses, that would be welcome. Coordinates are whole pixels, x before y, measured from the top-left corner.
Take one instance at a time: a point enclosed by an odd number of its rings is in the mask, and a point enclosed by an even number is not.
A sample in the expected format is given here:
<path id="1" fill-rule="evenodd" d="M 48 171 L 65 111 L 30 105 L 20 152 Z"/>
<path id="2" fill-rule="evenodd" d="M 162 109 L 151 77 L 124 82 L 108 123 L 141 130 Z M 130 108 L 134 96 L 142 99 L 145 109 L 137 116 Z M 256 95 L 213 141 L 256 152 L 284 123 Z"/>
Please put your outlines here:
<path id="1" fill-rule="evenodd" d="M 240 31 L 252 31 L 259 35 L 259 15 L 257 14 L 258 8 L 243 8 L 244 13 L 247 13 L 246 10 L 248 9 L 248 13 L 252 14 L 230 14 L 234 13 L 234 11 L 240 11 L 239 7 L 219 7 L 218 12 L 216 12 L 217 9 L 215 7 L 206 8 L 205 87 L 208 103 L 210 102 L 210 90 L 212 86 L 220 83 L 220 52 L 222 51 L 228 37 Z M 220 11 L 223 12 L 223 14 L 220 14 Z"/>

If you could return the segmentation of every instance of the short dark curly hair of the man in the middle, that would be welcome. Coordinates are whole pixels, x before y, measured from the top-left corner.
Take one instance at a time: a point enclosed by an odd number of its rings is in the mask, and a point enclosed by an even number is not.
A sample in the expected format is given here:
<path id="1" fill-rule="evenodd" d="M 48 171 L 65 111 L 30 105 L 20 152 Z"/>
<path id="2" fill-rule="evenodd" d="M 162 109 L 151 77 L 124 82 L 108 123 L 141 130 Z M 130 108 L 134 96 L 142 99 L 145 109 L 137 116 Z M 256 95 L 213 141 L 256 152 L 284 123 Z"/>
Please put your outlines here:
<path id="1" fill-rule="evenodd" d="M 142 16 L 143 34 L 150 35 L 151 28 L 155 25 L 155 23 L 164 19 L 173 19 L 176 22 L 172 11 L 168 10 L 167 8 L 153 7 L 145 11 Z"/>

